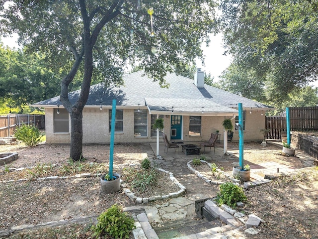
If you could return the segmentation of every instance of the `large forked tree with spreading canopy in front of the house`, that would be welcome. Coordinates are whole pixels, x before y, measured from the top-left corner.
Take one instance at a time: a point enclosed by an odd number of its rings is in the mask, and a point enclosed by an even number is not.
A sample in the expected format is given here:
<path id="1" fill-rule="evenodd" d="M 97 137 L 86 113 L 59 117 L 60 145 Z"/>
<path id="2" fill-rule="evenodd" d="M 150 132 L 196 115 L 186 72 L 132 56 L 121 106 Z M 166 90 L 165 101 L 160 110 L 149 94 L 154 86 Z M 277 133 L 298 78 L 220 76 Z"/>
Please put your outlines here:
<path id="1" fill-rule="evenodd" d="M 92 77 L 121 82 L 123 66 L 138 61 L 164 85 L 173 66 L 203 59 L 200 44 L 214 31 L 215 6 L 213 0 L 0 0 L 0 29 L 17 32 L 30 50 L 47 52 L 52 68 L 69 67 L 60 100 L 71 116 L 70 157 L 79 160 Z M 80 67 L 81 91 L 72 104 L 69 86 Z"/>

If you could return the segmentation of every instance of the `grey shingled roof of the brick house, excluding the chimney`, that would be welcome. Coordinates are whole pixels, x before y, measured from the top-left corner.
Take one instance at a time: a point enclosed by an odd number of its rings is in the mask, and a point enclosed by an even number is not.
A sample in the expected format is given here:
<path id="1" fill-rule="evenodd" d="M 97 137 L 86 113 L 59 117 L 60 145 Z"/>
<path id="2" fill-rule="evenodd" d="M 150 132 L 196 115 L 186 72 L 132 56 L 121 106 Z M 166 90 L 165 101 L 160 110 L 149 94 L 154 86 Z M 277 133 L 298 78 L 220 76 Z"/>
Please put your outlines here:
<path id="1" fill-rule="evenodd" d="M 116 99 L 117 108 L 145 107 L 151 114 L 221 114 L 233 115 L 238 103 L 243 108 L 258 110 L 273 109 L 267 105 L 232 94 L 213 86 L 204 85 L 197 88 L 193 80 L 176 75 L 167 74 L 164 77 L 168 88 L 161 88 L 158 82 L 148 78 L 143 71 L 134 72 L 123 77 L 123 86 L 105 88 L 102 83 L 90 87 L 89 97 L 85 107 L 111 108 L 112 100 Z M 79 98 L 80 91 L 69 93 L 69 99 L 74 104 Z M 62 105 L 59 96 L 35 103 L 33 107 L 56 107 Z M 173 111 L 173 112 L 172 112 Z"/>

